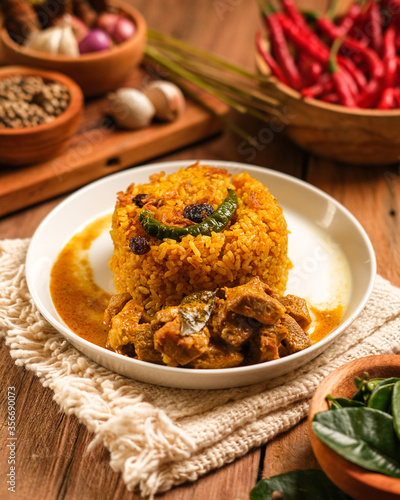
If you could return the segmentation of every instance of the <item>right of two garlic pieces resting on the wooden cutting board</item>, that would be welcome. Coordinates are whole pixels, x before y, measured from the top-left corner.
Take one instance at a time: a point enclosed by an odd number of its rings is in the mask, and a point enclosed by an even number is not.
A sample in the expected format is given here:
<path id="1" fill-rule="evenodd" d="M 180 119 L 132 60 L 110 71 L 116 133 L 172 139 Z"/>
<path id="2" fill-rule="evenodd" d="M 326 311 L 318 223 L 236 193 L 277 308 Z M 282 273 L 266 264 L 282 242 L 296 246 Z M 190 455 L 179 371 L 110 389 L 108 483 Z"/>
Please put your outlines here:
<path id="1" fill-rule="evenodd" d="M 159 120 L 172 122 L 185 110 L 185 97 L 179 87 L 172 82 L 155 81 L 143 89 L 156 108 Z"/>

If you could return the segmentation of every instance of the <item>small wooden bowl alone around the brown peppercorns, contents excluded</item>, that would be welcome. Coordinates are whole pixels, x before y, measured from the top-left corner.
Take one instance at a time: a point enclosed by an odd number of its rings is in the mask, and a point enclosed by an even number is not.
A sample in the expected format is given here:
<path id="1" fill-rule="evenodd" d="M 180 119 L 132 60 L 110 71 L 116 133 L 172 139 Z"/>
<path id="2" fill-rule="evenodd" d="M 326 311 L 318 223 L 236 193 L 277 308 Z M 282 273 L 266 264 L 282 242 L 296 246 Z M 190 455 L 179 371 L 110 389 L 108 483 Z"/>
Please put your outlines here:
<path id="1" fill-rule="evenodd" d="M 60 73 L 19 66 L 0 68 L 0 79 L 14 75 L 40 76 L 64 84 L 70 93 L 68 108 L 49 123 L 19 129 L 0 129 L 0 164 L 21 166 L 49 160 L 60 154 L 78 128 L 83 94 L 79 86 Z"/>

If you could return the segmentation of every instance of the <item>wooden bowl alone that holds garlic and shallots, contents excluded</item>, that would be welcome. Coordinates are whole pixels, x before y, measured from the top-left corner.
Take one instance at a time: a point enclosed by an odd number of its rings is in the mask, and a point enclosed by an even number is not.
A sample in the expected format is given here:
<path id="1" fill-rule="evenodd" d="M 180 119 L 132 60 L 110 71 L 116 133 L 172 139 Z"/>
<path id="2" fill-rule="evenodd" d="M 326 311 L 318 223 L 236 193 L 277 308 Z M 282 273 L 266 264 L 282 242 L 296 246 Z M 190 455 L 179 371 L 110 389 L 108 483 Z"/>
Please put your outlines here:
<path id="1" fill-rule="evenodd" d="M 7 30 L 2 28 L 0 39 L 6 63 L 64 73 L 75 80 L 87 97 L 117 88 L 142 60 L 147 25 L 143 16 L 129 4 L 109 0 L 109 5 L 124 11 L 136 24 L 136 33 L 129 40 L 107 51 L 82 54 L 79 57 L 58 56 L 26 49 L 15 43 Z"/>

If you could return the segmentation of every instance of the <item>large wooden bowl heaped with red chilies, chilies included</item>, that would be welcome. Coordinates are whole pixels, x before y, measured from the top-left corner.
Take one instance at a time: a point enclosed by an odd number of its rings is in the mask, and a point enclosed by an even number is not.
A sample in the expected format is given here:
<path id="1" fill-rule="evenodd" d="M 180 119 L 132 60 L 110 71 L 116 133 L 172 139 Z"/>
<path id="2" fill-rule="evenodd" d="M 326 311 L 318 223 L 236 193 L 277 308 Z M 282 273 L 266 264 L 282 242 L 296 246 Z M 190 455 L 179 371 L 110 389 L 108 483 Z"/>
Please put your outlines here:
<path id="1" fill-rule="evenodd" d="M 293 3 L 262 12 L 256 37 L 266 92 L 281 103 L 285 132 L 303 149 L 365 165 L 400 158 L 400 1 L 353 4 L 334 20 Z"/>

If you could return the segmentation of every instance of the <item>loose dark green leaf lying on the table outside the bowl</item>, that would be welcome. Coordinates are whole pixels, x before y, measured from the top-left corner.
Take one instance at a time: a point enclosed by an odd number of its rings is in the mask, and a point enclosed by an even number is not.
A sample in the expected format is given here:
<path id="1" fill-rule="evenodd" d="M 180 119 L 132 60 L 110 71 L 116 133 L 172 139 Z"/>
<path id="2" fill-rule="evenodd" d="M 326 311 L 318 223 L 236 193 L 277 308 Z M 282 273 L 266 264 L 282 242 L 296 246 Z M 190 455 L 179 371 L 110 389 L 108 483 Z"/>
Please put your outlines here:
<path id="1" fill-rule="evenodd" d="M 297 470 L 262 479 L 250 492 L 250 500 L 350 500 L 324 472 Z M 274 496 L 273 496 L 274 494 Z"/>

